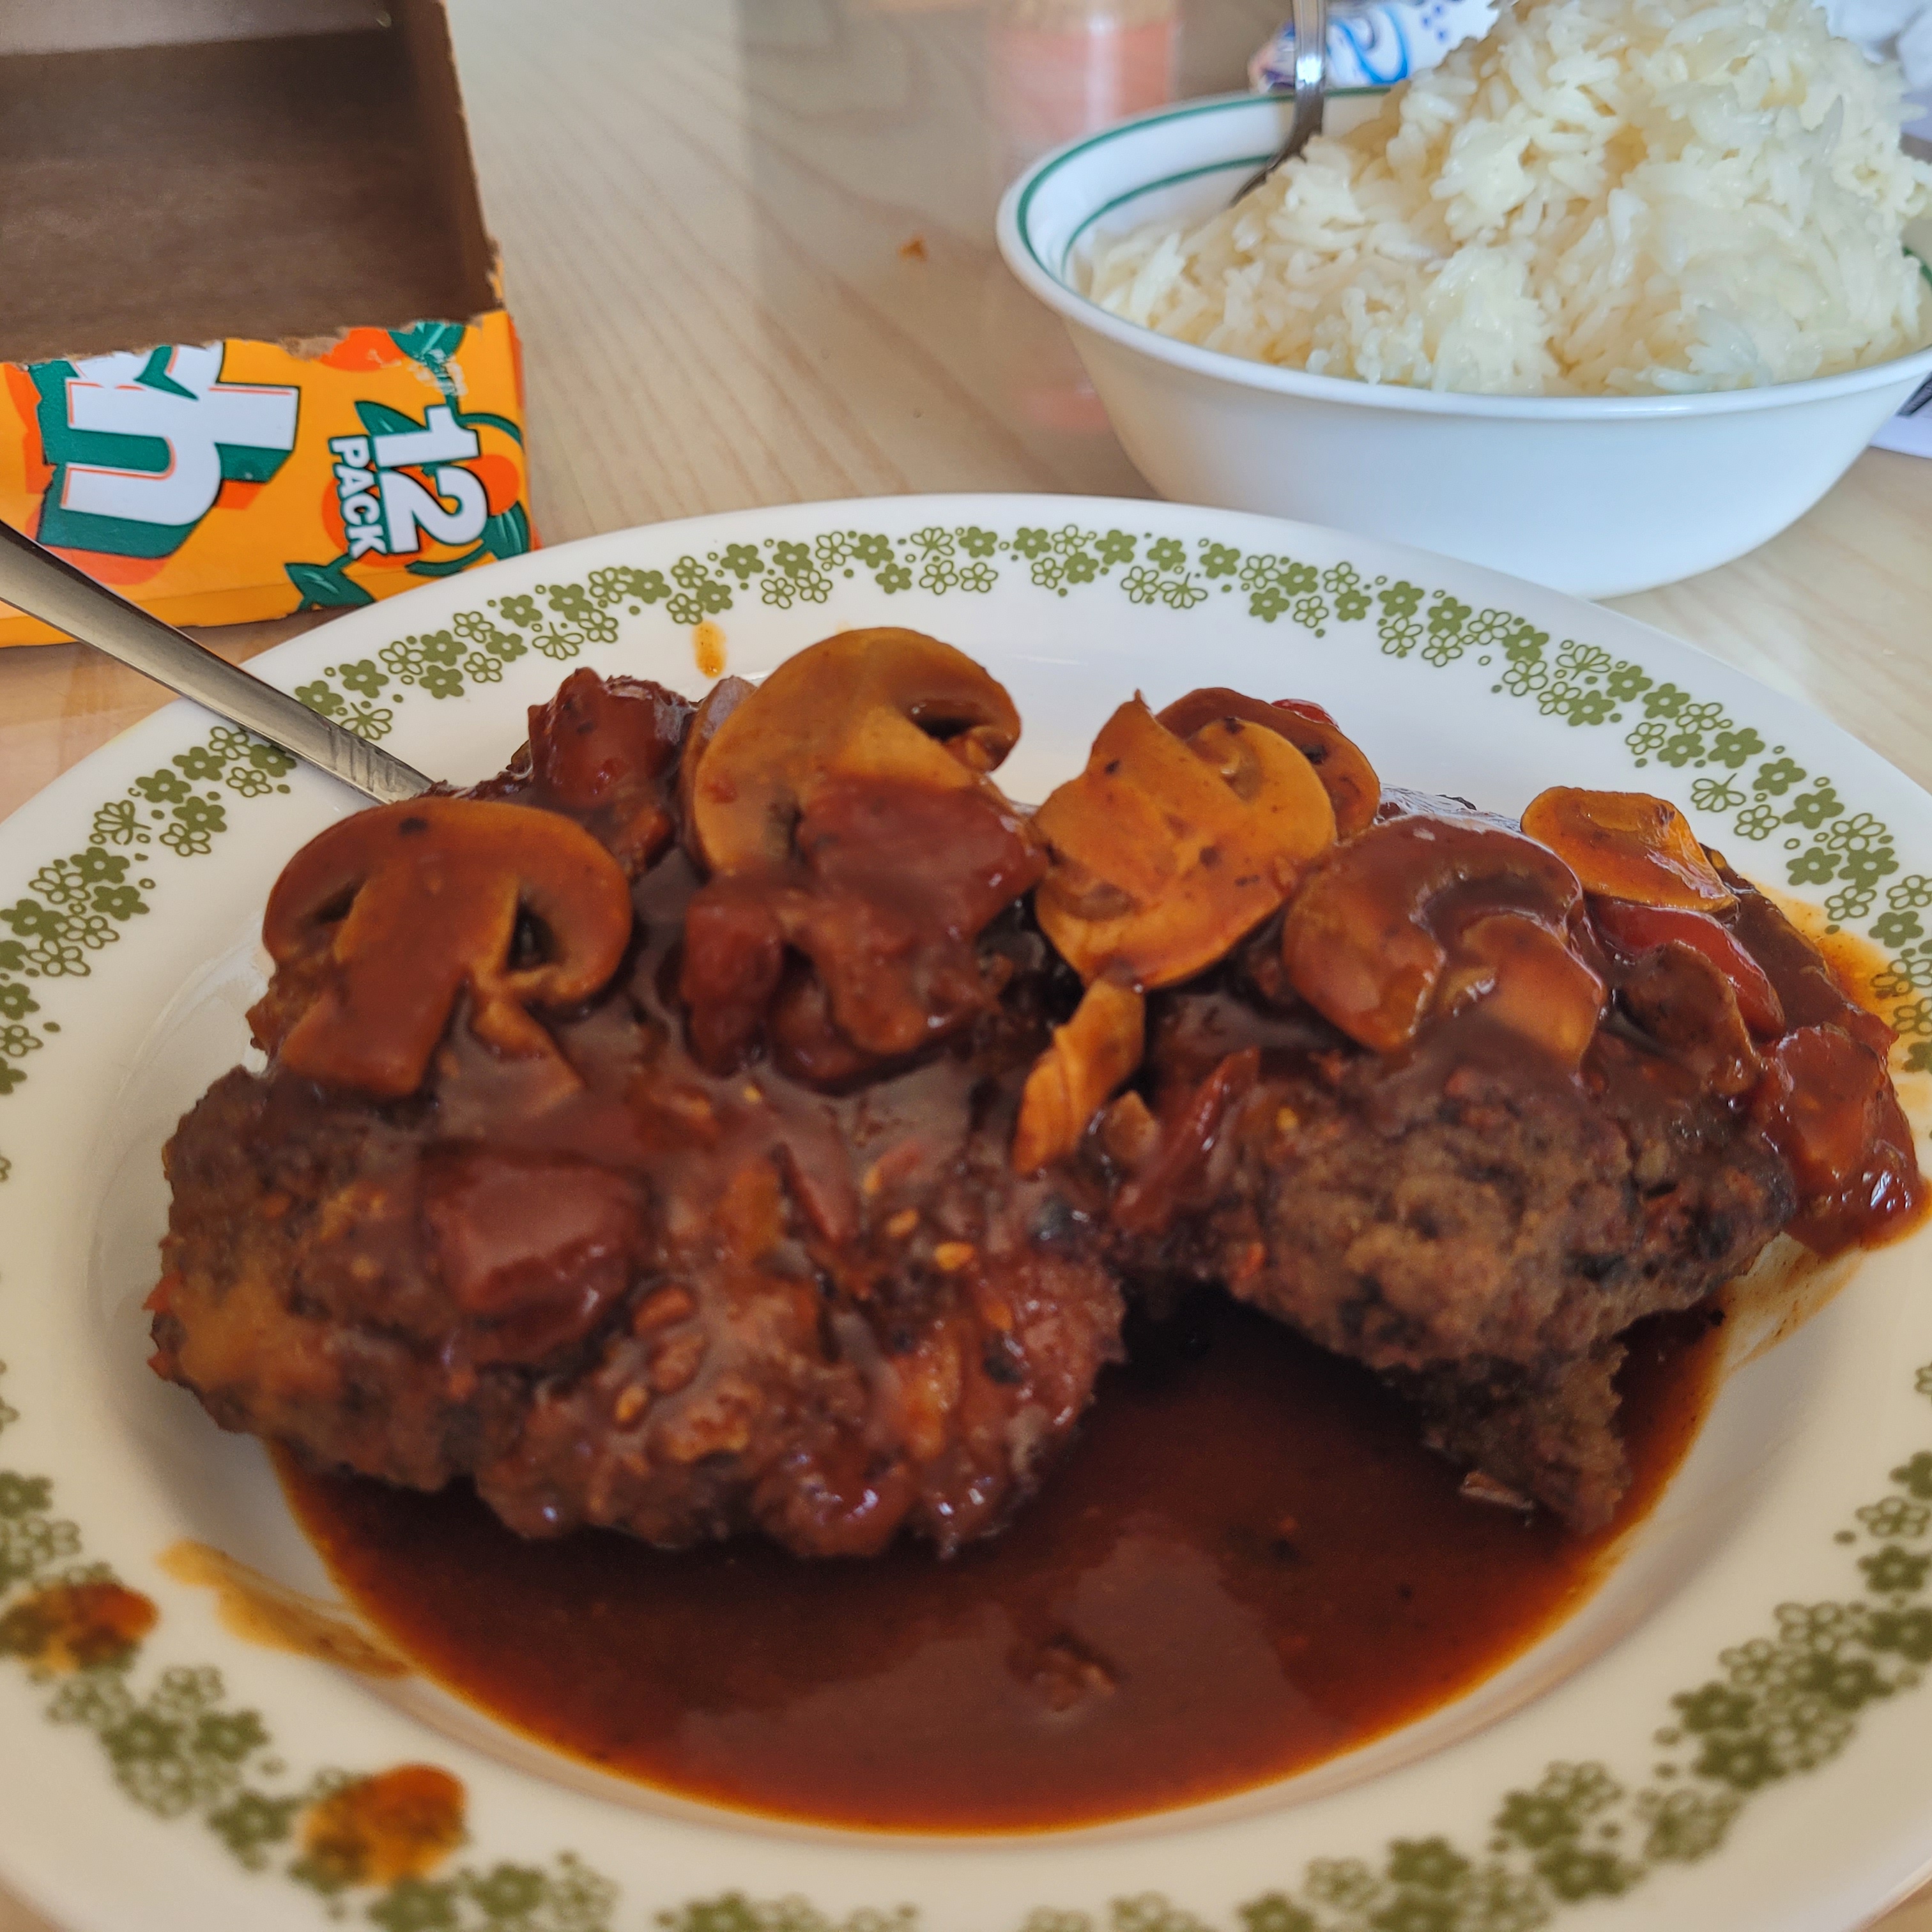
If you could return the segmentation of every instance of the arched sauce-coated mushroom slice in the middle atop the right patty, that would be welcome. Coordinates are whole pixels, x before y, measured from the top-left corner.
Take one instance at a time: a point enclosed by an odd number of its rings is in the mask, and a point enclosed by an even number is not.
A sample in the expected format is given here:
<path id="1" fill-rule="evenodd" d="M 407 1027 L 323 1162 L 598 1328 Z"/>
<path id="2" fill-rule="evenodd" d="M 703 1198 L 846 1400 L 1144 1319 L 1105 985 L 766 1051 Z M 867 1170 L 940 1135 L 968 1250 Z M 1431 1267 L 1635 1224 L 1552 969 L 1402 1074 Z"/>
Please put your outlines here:
<path id="1" fill-rule="evenodd" d="M 1577 875 L 1544 846 L 1482 819 L 1416 813 L 1372 825 L 1329 854 L 1289 906 L 1281 956 L 1318 1012 L 1364 1047 L 1395 1053 L 1416 1037 L 1443 985 L 1443 933 L 1517 912 L 1561 941 L 1580 906 Z M 1522 949 L 1493 937 L 1501 985 L 1503 952 L 1520 958 Z M 1511 999 L 1495 1010 L 1520 1009 Z"/>

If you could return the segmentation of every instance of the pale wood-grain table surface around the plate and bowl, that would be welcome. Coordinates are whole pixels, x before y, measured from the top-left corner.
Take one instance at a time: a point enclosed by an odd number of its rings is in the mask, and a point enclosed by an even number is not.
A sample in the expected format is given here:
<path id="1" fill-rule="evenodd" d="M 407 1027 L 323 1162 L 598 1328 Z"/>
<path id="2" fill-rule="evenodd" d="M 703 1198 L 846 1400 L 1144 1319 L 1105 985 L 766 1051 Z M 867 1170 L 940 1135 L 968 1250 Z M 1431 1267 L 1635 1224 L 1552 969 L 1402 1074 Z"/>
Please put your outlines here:
<path id="1" fill-rule="evenodd" d="M 1182 95 L 1242 85 L 1287 10 L 1117 6 L 1142 48 L 1171 25 Z M 997 58 L 1086 0 L 450 12 L 549 541 L 848 495 L 1148 495 L 993 247 L 999 189 L 1055 126 L 1153 104 L 1146 71 L 1094 64 L 1055 91 Z M 1932 784 L 1932 462 L 1870 452 L 1762 551 L 1617 609 Z M 205 638 L 242 659 L 313 622 Z M 0 651 L 0 815 L 162 701 L 77 645 Z M 1932 1932 L 1932 1889 L 1882 1924 Z M 46 1928 L 0 1895 L 0 1932 Z"/>

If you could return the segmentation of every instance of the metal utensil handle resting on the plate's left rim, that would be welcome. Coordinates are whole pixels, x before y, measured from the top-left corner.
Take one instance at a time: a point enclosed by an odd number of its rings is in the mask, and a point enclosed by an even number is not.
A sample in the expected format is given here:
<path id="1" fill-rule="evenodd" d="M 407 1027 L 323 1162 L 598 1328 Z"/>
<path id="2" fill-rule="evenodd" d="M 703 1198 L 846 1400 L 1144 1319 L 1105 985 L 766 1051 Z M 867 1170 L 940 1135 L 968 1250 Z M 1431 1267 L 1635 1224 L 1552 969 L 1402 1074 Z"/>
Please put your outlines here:
<path id="1" fill-rule="evenodd" d="M 379 806 L 427 792 L 431 781 L 400 757 L 330 724 L 319 711 L 216 657 L 193 638 L 0 524 L 0 599 L 120 659 L 218 717 L 270 738 Z"/>

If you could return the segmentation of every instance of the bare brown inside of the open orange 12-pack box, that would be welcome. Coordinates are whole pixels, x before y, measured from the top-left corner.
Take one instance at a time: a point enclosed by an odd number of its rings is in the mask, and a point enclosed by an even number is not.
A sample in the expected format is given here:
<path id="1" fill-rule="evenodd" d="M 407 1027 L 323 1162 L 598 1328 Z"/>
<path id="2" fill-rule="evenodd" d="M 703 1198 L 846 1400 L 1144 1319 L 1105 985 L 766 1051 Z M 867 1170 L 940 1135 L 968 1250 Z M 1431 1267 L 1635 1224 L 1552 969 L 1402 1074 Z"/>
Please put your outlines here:
<path id="1" fill-rule="evenodd" d="M 0 58 L 0 361 L 493 307 L 442 8 L 392 15 Z"/>

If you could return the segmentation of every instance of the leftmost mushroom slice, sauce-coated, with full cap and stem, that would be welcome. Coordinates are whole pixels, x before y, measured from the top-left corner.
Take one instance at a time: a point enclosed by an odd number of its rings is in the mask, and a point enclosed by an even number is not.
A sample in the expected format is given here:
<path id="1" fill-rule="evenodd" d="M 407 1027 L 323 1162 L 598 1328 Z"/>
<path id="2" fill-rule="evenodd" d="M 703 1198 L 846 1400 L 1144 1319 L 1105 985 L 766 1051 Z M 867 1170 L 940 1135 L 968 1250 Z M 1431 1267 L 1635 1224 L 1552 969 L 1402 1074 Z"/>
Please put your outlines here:
<path id="1" fill-rule="evenodd" d="M 518 922 L 545 958 L 518 964 Z M 475 798 L 417 798 L 311 838 L 269 895 L 263 945 L 315 997 L 282 1065 L 379 1099 L 413 1094 L 458 995 L 512 1057 L 562 1061 L 529 1007 L 589 999 L 630 943 L 630 887 L 572 819 Z"/>

